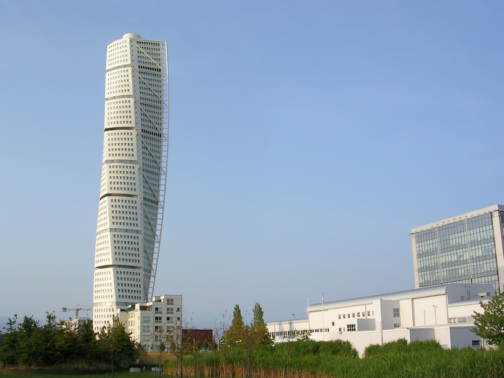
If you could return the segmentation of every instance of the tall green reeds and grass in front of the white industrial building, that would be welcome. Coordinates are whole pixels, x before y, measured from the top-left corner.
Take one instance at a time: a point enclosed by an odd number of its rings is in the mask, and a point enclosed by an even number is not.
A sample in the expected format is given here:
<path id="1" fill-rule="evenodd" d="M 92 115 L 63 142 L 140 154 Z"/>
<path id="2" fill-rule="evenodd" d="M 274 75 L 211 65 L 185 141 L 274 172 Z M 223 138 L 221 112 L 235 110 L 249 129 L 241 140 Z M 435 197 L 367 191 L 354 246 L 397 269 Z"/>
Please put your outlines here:
<path id="1" fill-rule="evenodd" d="M 247 351 L 240 346 L 183 359 L 184 376 L 247 376 Z M 402 339 L 371 345 L 363 358 L 346 341 L 295 341 L 256 347 L 252 374 L 258 378 L 489 378 L 504 376 L 499 350 L 443 349 L 436 341 Z M 164 361 L 165 373 L 179 374 L 178 361 Z"/>

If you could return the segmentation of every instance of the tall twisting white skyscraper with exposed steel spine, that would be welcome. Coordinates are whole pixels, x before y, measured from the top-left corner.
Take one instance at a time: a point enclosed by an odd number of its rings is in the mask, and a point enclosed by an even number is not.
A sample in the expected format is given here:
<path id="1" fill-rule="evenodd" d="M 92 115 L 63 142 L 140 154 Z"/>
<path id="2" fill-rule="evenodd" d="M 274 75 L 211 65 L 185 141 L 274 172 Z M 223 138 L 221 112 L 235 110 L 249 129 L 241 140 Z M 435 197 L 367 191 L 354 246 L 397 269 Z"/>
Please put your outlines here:
<path id="1" fill-rule="evenodd" d="M 108 45 L 104 120 L 95 330 L 153 295 L 168 157 L 166 42 L 129 33 Z"/>

